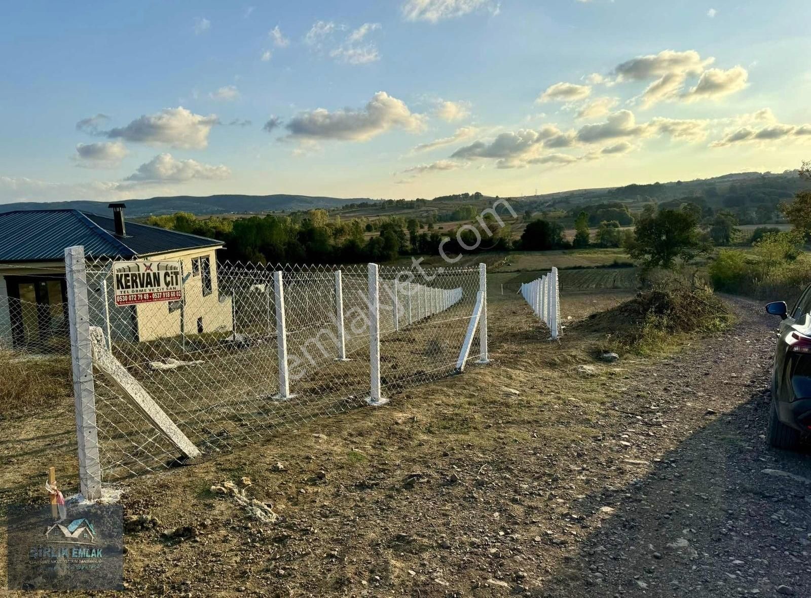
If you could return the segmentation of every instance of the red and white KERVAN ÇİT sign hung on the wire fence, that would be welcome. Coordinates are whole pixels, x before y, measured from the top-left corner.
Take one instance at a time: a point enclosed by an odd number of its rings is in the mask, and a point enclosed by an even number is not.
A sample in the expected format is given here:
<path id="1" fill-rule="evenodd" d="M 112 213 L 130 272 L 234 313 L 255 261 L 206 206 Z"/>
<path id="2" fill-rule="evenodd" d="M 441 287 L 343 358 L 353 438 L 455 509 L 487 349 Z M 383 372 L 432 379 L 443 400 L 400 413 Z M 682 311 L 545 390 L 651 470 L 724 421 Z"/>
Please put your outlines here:
<path id="1" fill-rule="evenodd" d="M 118 262 L 113 264 L 115 305 L 181 301 L 180 262 Z"/>

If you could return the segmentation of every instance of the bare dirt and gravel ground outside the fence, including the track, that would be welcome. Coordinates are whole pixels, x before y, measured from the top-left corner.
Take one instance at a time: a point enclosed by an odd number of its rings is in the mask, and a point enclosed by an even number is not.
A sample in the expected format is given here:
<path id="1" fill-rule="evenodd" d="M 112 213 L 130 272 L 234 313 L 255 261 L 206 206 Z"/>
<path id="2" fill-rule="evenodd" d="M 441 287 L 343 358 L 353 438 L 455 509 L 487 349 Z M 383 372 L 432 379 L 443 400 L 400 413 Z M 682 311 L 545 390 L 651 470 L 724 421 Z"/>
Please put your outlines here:
<path id="1" fill-rule="evenodd" d="M 608 365 L 583 318 L 629 293 L 564 295 L 558 343 L 491 297 L 491 365 L 126 481 L 126 514 L 159 520 L 126 536 L 127 594 L 811 596 L 811 456 L 764 441 L 760 305 L 730 299 L 732 330 Z M 46 416 L 0 442 L 4 504 L 35 500 L 46 463 L 71 475 Z M 275 522 L 212 492 L 245 476 Z"/>

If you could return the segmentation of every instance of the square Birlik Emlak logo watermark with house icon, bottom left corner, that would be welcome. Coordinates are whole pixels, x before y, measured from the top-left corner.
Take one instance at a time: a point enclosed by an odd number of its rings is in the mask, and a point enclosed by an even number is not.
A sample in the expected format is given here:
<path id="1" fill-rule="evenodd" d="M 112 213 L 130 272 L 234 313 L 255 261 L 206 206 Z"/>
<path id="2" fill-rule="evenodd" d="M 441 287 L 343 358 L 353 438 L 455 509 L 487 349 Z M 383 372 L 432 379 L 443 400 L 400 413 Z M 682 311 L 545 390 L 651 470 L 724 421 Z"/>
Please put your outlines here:
<path id="1" fill-rule="evenodd" d="M 9 506 L 9 590 L 122 590 L 120 505 Z"/>

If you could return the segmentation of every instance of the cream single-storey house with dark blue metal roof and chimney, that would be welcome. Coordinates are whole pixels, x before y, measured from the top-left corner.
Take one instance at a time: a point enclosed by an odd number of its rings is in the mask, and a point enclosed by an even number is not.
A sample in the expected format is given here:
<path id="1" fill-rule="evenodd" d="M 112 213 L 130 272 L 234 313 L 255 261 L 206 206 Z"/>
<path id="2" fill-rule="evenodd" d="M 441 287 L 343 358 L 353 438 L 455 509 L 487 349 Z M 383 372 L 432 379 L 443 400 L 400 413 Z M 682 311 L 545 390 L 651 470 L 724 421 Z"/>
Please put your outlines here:
<path id="1" fill-rule="evenodd" d="M 109 216 L 70 209 L 0 213 L 0 346 L 64 342 L 64 254 L 79 245 L 94 271 L 115 259 L 138 259 L 179 262 L 183 272 L 182 302 L 122 307 L 114 305 L 111 275 L 88 274 L 92 324 L 104 319 L 112 322 L 111 334 L 141 341 L 231 330 L 231 299 L 221 299 L 217 289 L 222 241 L 127 221 L 125 207 L 109 204 Z"/>

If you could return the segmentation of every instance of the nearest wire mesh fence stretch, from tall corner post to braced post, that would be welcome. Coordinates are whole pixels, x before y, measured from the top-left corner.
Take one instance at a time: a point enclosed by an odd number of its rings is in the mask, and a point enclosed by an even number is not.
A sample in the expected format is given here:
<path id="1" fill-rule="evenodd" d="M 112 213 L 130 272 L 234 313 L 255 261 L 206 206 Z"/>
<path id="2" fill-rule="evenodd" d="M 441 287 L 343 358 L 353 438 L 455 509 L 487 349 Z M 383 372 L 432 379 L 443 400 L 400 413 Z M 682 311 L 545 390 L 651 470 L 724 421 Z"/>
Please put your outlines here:
<path id="1" fill-rule="evenodd" d="M 373 266 L 183 258 L 182 298 L 121 305 L 117 276 L 137 263 L 88 261 L 92 465 L 105 480 L 155 471 L 452 373 L 483 272 Z"/>

